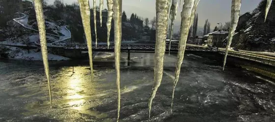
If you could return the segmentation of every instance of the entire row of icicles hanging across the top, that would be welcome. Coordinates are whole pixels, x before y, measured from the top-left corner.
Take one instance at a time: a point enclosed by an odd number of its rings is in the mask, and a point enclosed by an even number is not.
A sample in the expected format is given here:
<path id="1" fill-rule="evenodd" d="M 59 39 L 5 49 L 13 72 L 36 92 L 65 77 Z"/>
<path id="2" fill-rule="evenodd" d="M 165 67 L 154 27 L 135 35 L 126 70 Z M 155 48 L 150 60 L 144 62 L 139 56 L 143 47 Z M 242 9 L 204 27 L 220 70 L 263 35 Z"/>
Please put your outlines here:
<path id="1" fill-rule="evenodd" d="M 91 68 L 91 81 L 93 81 L 93 64 L 92 64 L 92 37 L 91 37 L 91 28 L 90 28 L 90 6 L 89 0 L 78 0 L 81 10 L 81 17 L 83 21 L 83 28 L 85 37 L 87 40 L 88 46 L 88 54 Z M 188 38 L 189 29 L 192 25 L 193 18 L 196 12 L 196 7 L 198 5 L 199 0 L 184 0 L 181 11 L 181 27 L 180 27 L 180 40 L 178 46 L 178 55 L 177 55 L 177 63 L 175 69 L 175 79 L 172 91 L 172 102 L 171 102 L 171 112 L 174 98 L 174 91 L 179 80 L 180 68 L 184 58 L 184 51 L 186 47 L 186 41 Z M 181 0 L 180 0 L 181 7 Z M 271 6 L 272 0 L 267 0 L 266 5 L 266 13 L 265 20 Z M 170 7 L 170 15 L 171 19 L 171 28 L 170 28 L 170 36 L 173 31 L 173 21 L 176 18 L 176 8 L 177 8 L 177 0 L 171 0 Z M 46 30 L 45 30 L 45 20 L 43 15 L 43 7 L 41 0 L 34 0 L 36 19 L 38 22 L 42 57 L 44 63 L 44 69 L 48 80 L 48 88 L 49 88 L 49 97 L 50 103 L 52 107 L 52 94 L 51 94 L 51 85 L 50 85 L 50 76 L 49 76 L 49 65 L 48 65 L 48 54 L 47 54 L 47 41 L 46 41 Z M 114 52 L 115 52 L 115 69 L 116 69 L 116 84 L 117 84 L 117 121 L 119 119 L 119 110 L 120 110 L 120 46 L 121 46 L 121 15 L 122 15 L 122 0 L 107 0 L 108 5 L 108 20 L 107 20 L 107 35 L 108 35 L 108 47 L 110 45 L 110 29 L 111 29 L 111 20 L 114 20 Z M 156 0 L 156 11 L 157 11 L 157 22 L 156 22 L 156 47 L 155 47 L 155 63 L 154 63 L 154 82 L 152 86 L 151 96 L 149 98 L 148 107 L 149 107 L 149 119 L 150 119 L 150 111 L 152 106 L 152 101 L 155 98 L 158 87 L 161 84 L 162 76 L 163 76 L 163 62 L 165 55 L 165 39 L 167 32 L 167 22 L 168 22 L 168 13 L 169 13 L 170 0 Z M 96 9 L 95 9 L 95 0 L 93 0 L 93 12 L 94 12 L 94 24 L 95 24 L 95 32 L 96 32 Z M 103 0 L 100 0 L 100 23 L 102 24 L 102 11 Z M 228 49 L 230 48 L 230 44 L 234 35 L 234 31 L 236 29 L 239 14 L 240 14 L 241 0 L 232 0 L 231 5 L 231 25 L 229 29 L 229 39 L 227 41 L 226 52 L 223 61 L 223 69 L 226 62 L 226 57 L 228 53 Z M 97 35 L 96 35 L 97 36 Z M 97 38 L 95 38 L 97 39 Z M 97 41 L 97 40 L 96 40 Z M 171 37 L 170 37 L 171 41 Z M 169 47 L 170 47 L 169 43 Z"/>

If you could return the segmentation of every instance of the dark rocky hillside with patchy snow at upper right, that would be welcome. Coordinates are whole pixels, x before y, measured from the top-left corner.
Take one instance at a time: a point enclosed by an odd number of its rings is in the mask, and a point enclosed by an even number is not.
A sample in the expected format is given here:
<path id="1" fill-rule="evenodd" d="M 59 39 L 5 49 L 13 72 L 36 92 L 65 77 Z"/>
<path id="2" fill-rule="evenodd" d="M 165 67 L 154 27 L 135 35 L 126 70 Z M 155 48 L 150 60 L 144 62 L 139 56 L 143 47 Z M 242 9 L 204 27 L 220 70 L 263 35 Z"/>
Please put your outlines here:
<path id="1" fill-rule="evenodd" d="M 233 38 L 232 47 L 251 51 L 275 51 L 275 0 L 273 1 L 266 21 L 266 0 L 263 0 L 249 13 L 247 21 L 238 25 L 238 34 Z"/>

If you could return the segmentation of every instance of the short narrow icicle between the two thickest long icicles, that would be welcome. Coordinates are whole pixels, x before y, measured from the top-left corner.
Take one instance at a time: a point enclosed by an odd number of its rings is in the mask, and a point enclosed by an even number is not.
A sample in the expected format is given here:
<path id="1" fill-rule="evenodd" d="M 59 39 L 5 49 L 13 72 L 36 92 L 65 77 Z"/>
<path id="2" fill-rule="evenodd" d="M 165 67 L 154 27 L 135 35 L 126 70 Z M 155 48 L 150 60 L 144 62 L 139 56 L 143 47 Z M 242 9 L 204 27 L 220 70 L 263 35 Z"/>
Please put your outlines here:
<path id="1" fill-rule="evenodd" d="M 176 19 L 177 15 L 177 6 L 178 6 L 178 1 L 177 0 L 172 0 L 172 5 L 170 8 L 170 33 L 169 33 L 169 56 L 170 56 L 170 49 L 171 49 L 171 39 L 172 39 L 172 33 L 173 33 L 173 26 L 174 26 L 174 20 Z"/>

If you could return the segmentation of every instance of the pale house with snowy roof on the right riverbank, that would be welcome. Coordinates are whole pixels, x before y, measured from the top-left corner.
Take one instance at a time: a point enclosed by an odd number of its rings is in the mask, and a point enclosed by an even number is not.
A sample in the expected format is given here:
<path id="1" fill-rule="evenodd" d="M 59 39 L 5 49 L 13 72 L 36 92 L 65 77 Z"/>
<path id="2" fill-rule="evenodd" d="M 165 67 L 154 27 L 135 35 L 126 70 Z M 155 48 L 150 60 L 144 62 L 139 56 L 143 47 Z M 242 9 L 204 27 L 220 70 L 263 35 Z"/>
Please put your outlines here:
<path id="1" fill-rule="evenodd" d="M 210 46 L 222 46 L 222 41 L 228 36 L 227 31 L 218 30 L 208 34 L 207 45 Z"/>

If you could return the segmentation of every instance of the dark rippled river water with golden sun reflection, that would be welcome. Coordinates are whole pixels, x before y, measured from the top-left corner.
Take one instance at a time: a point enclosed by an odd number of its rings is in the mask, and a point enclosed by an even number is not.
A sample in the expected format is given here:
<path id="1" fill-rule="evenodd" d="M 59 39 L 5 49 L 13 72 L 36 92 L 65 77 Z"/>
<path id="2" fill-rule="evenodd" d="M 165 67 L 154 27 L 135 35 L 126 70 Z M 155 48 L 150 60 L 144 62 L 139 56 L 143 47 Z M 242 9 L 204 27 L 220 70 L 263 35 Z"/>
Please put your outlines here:
<path id="1" fill-rule="evenodd" d="M 94 81 L 88 61 L 50 65 L 53 109 L 50 109 L 43 64 L 0 61 L 0 122 L 114 122 L 116 74 L 113 53 L 94 59 Z M 127 53 L 121 60 L 120 122 L 147 122 L 153 81 L 153 57 Z M 239 67 L 186 54 L 170 113 L 176 56 L 165 55 L 164 76 L 152 105 L 151 122 L 275 122 L 272 80 Z M 74 73 L 73 71 L 74 66 Z"/>

